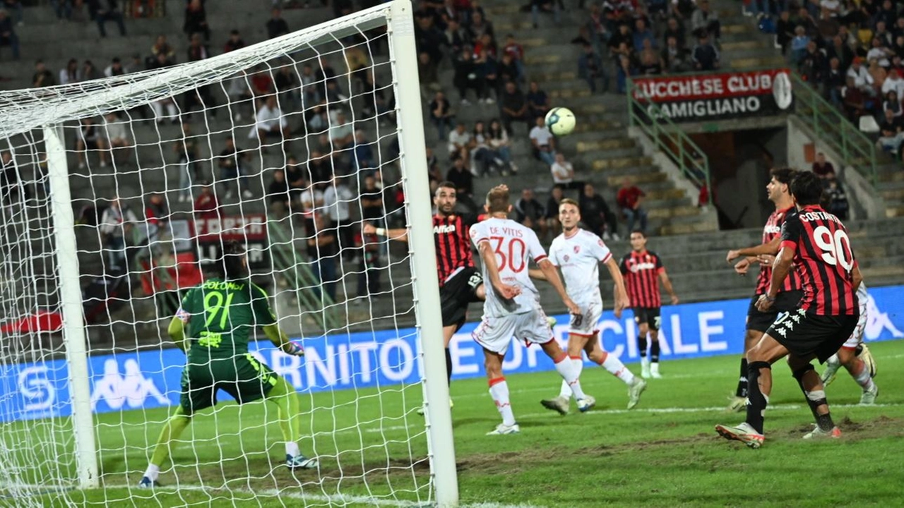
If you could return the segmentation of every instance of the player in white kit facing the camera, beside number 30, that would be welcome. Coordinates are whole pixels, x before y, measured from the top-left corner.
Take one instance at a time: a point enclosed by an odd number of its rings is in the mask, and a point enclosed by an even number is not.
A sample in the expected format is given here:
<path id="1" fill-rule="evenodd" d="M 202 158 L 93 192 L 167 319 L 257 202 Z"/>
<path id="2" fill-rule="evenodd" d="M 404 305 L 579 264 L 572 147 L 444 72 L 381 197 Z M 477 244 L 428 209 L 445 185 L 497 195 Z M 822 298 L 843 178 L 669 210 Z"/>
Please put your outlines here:
<path id="1" fill-rule="evenodd" d="M 640 401 L 640 394 L 646 389 L 646 381 L 635 377 L 634 373 L 618 360 L 615 355 L 603 349 L 599 340 L 597 325 L 603 315 L 603 297 L 599 293 L 599 263 L 606 265 L 609 275 L 615 280 L 615 313 L 621 313 L 628 306 L 625 279 L 622 278 L 618 263 L 599 237 L 578 227 L 580 209 L 578 202 L 563 199 L 559 203 L 559 221 L 562 233 L 552 240 L 550 261 L 561 268 L 565 287 L 569 296 L 580 307 L 579 315 L 571 316 L 568 337 L 568 354 L 575 371 L 580 376 L 584 366 L 581 352 L 587 352 L 592 362 L 602 366 L 628 386 L 627 409 L 632 409 Z M 543 278 L 539 270 L 531 270 L 532 278 Z M 571 391 L 562 386 L 559 397 L 541 400 L 546 409 L 568 414 Z"/>

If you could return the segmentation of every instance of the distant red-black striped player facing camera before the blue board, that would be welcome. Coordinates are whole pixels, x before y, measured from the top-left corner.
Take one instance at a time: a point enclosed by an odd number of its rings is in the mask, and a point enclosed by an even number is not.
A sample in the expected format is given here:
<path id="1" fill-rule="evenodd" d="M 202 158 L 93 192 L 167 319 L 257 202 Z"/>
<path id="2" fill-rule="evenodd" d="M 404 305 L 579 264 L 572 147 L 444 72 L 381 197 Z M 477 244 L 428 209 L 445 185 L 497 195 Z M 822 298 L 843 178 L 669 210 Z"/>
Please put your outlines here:
<path id="1" fill-rule="evenodd" d="M 645 378 L 661 378 L 659 373 L 659 322 L 660 307 L 659 281 L 672 297 L 672 305 L 678 303 L 672 281 L 665 273 L 663 260 L 646 249 L 646 233 L 642 230 L 631 232 L 631 252 L 622 258 L 619 267 L 625 277 L 627 299 L 634 310 L 637 323 L 637 349 L 640 350 L 641 374 Z M 646 335 L 650 335 L 650 360 L 646 359 Z"/>

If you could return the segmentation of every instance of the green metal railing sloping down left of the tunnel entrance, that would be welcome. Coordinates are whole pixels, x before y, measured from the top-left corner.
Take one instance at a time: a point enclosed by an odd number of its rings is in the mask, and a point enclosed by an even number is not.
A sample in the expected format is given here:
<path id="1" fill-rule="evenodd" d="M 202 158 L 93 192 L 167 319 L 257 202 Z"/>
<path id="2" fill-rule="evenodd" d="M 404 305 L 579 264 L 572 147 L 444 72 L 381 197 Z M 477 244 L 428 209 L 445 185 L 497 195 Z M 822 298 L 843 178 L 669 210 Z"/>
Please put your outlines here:
<path id="1" fill-rule="evenodd" d="M 681 127 L 666 117 L 654 102 L 642 103 L 634 97 L 634 80 L 627 80 L 628 123 L 638 127 L 653 141 L 656 150 L 672 159 L 682 174 L 698 188 L 706 188 L 711 202 L 710 159 Z"/>

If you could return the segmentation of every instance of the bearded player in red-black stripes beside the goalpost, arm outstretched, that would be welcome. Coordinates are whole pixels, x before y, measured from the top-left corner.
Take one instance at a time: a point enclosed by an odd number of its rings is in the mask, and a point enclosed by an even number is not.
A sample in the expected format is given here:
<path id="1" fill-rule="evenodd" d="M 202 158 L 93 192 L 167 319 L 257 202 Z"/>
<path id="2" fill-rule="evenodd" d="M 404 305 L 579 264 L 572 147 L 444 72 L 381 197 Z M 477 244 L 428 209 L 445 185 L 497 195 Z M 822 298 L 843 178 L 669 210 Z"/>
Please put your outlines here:
<path id="1" fill-rule="evenodd" d="M 484 278 L 474 266 L 471 251 L 471 225 L 479 219 L 477 214 L 461 214 L 455 211 L 457 204 L 456 185 L 439 183 L 433 196 L 437 213 L 433 216 L 433 238 L 437 248 L 437 275 L 439 277 L 439 297 L 443 318 L 443 342 L 446 345 L 446 373 L 452 379 L 452 354 L 449 341 L 465 324 L 467 306 L 471 302 L 482 302 L 486 294 Z M 367 224 L 364 232 L 372 231 L 390 240 L 408 241 L 408 230 L 383 230 Z"/>

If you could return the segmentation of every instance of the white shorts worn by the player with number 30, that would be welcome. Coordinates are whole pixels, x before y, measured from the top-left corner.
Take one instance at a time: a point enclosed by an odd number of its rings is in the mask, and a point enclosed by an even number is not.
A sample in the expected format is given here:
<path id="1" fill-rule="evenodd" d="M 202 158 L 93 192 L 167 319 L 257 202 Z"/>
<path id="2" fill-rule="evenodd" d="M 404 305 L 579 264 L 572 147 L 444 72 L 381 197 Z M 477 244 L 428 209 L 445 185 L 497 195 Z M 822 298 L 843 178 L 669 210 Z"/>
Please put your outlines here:
<path id="1" fill-rule="evenodd" d="M 484 316 L 476 330 L 471 332 L 471 337 L 484 349 L 505 354 L 512 337 L 524 341 L 526 345 L 548 343 L 552 340 L 552 330 L 546 321 L 546 314 L 538 307 L 522 314 Z"/>

